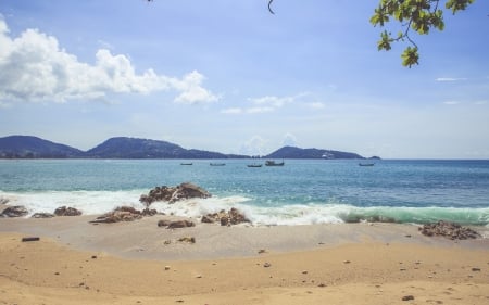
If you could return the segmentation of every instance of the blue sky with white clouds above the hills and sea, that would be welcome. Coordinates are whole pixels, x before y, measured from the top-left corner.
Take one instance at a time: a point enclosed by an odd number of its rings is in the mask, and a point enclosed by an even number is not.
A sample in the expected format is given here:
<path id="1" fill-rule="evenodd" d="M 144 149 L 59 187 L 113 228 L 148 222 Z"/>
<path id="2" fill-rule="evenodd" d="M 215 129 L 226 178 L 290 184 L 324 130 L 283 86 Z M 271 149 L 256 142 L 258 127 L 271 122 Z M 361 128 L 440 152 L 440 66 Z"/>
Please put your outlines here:
<path id="1" fill-rule="evenodd" d="M 377 0 L 267 2 L 1 0 L 0 137 L 489 158 L 489 1 L 413 34 L 412 68 Z"/>

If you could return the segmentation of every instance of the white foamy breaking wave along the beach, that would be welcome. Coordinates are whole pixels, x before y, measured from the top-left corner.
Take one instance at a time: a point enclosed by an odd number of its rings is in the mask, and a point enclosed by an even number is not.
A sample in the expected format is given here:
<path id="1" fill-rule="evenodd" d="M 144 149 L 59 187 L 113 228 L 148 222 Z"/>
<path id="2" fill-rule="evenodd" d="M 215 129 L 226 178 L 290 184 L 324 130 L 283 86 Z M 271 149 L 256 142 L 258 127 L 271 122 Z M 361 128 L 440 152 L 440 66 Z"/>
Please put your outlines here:
<path id="1" fill-rule="evenodd" d="M 59 206 L 72 206 L 85 215 L 100 215 L 122 205 L 143 208 L 139 195 L 146 190 L 131 191 L 71 191 L 71 192 L 1 192 L 0 198 L 9 200 L 10 205 L 24 205 L 29 215 L 52 213 Z M 489 226 L 489 207 L 404 207 L 369 206 L 349 204 L 283 204 L 280 206 L 260 206 L 247 196 L 214 196 L 192 199 L 167 204 L 155 202 L 151 205 L 160 213 L 183 217 L 200 218 L 209 213 L 236 207 L 255 226 L 340 224 L 360 221 L 381 221 L 402 224 L 426 224 L 438 220 L 455 221 L 462 225 Z M 29 215 L 27 217 L 29 217 Z"/>

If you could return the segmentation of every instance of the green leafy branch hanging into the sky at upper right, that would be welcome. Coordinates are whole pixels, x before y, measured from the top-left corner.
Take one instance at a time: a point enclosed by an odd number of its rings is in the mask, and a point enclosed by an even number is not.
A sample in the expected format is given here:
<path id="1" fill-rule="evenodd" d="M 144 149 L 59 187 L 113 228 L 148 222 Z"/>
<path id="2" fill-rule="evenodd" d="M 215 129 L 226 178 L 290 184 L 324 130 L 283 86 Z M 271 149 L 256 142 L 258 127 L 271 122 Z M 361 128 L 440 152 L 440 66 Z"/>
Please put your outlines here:
<path id="1" fill-rule="evenodd" d="M 444 8 L 451 10 L 452 14 L 465 10 L 475 0 L 447 0 Z M 380 0 L 375 9 L 371 23 L 374 26 L 384 27 L 393 18 L 401 23 L 403 30 L 397 36 L 388 30 L 380 33 L 380 40 L 377 42 L 378 50 L 389 51 L 392 42 L 408 41 L 411 46 L 404 49 L 401 54 L 402 65 L 411 67 L 417 65 L 419 61 L 418 48 L 411 38 L 414 30 L 419 35 L 427 35 L 431 28 L 443 30 L 443 10 L 439 4 L 442 0 Z"/>

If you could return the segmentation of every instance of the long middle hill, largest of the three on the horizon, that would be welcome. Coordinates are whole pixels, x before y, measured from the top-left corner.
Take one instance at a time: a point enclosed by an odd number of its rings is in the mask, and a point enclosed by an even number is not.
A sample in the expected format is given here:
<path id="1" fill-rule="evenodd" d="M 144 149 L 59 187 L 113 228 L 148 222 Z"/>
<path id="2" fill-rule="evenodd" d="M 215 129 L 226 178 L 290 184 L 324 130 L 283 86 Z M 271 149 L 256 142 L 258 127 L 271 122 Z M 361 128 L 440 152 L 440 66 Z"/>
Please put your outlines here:
<path id="1" fill-rule="evenodd" d="M 186 150 L 166 141 L 111 138 L 89 150 L 87 157 L 101 158 L 227 158 L 228 155 L 201 150 Z M 241 156 L 242 157 L 242 156 Z"/>

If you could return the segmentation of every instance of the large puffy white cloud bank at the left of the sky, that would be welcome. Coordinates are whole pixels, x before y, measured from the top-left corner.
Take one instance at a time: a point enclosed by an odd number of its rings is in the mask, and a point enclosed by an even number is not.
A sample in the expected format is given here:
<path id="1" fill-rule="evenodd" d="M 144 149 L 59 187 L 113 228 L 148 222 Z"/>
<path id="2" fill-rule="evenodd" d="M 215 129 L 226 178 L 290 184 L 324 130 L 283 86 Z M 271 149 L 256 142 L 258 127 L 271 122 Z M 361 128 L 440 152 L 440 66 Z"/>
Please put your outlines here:
<path id="1" fill-rule="evenodd" d="M 59 46 L 53 36 L 26 29 L 9 36 L 0 18 L 0 102 L 98 99 L 109 93 L 175 91 L 177 103 L 208 103 L 218 100 L 202 87 L 205 77 L 197 71 L 181 78 L 159 75 L 153 69 L 137 73 L 126 55 L 108 49 L 96 53 L 95 64 L 78 61 Z"/>

